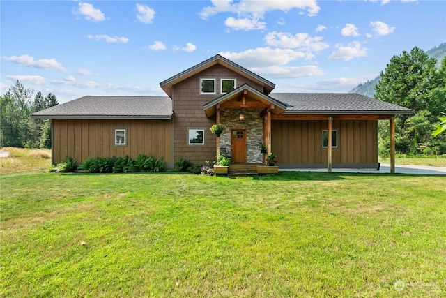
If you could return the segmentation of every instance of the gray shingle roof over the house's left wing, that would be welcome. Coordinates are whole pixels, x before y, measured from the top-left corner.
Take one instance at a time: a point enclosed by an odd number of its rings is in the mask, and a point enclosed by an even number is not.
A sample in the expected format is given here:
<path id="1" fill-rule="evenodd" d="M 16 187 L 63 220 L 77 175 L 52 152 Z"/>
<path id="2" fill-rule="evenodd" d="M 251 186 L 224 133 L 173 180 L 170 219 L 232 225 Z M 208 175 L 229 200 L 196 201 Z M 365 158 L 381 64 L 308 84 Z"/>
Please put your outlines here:
<path id="1" fill-rule="evenodd" d="M 168 96 L 84 96 L 36 112 L 33 118 L 54 119 L 171 119 Z"/>

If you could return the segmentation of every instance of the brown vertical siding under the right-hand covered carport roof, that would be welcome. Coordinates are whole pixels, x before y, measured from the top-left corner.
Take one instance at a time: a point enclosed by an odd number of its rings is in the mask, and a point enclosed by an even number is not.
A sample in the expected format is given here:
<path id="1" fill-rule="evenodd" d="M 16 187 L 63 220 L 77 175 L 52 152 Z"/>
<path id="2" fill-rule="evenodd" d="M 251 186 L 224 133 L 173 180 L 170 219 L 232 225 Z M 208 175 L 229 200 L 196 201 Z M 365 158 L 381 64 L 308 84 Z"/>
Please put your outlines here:
<path id="1" fill-rule="evenodd" d="M 326 167 L 327 148 L 322 131 L 328 121 L 272 121 L 272 152 L 280 167 Z M 378 121 L 333 121 L 337 148 L 332 149 L 333 167 L 378 166 Z"/>

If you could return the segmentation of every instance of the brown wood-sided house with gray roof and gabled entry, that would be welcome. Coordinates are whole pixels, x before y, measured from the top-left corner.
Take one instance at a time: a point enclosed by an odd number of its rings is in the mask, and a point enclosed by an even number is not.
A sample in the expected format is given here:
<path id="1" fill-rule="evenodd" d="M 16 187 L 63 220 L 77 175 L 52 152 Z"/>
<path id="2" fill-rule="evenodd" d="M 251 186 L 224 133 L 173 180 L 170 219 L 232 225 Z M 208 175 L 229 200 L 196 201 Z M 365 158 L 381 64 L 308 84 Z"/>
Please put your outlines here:
<path id="1" fill-rule="evenodd" d="M 167 96 L 84 96 L 33 118 L 52 119 L 52 163 L 139 154 L 174 167 L 215 161 L 263 163 L 259 144 L 281 168 L 378 168 L 378 121 L 413 111 L 359 94 L 272 93 L 275 84 L 219 54 L 160 83 Z M 213 124 L 226 129 L 220 137 Z"/>

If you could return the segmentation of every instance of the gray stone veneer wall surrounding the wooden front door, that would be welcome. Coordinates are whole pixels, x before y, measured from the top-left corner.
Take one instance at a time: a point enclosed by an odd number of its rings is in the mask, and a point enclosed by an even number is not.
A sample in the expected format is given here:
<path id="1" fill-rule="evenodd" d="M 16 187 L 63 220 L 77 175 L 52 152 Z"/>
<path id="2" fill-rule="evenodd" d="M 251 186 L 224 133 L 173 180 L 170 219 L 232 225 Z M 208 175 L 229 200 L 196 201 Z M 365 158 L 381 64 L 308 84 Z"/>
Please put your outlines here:
<path id="1" fill-rule="evenodd" d="M 226 129 L 220 135 L 220 147 L 231 150 L 231 129 L 246 129 L 246 161 L 247 163 L 263 163 L 263 154 L 259 144 L 263 142 L 263 119 L 256 109 L 243 109 L 245 121 L 238 121 L 240 109 L 221 109 L 220 123 Z"/>

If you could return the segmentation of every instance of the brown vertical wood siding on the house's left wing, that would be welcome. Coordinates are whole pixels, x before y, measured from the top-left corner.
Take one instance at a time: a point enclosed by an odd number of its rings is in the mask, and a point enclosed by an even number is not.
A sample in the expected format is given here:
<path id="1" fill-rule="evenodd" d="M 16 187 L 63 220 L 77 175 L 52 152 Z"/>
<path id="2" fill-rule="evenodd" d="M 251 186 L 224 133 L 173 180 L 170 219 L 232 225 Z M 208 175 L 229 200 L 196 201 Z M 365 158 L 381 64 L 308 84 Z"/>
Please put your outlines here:
<path id="1" fill-rule="evenodd" d="M 127 129 L 127 145 L 114 144 L 115 128 Z M 172 161 L 172 124 L 169 120 L 53 119 L 52 163 L 66 156 L 79 165 L 87 158 L 137 158 L 146 154 L 162 158 L 167 167 Z"/>

